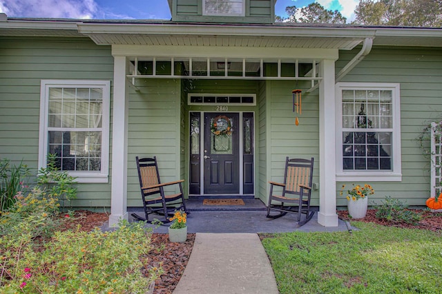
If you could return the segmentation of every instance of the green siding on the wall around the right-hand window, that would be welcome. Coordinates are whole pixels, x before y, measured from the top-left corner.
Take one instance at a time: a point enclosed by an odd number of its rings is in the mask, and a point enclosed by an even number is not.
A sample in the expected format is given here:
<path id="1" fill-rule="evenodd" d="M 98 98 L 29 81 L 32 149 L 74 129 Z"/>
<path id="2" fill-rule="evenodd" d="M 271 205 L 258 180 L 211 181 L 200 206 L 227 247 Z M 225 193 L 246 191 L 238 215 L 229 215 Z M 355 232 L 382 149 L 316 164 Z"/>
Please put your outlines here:
<path id="1" fill-rule="evenodd" d="M 341 52 L 337 71 L 358 50 Z M 410 205 L 425 205 L 430 196 L 430 158 L 423 156 L 417 140 L 425 126 L 442 118 L 442 52 L 434 48 L 374 48 L 343 81 L 400 83 L 402 182 L 370 182 L 377 202 L 385 196 L 401 198 Z M 425 142 L 429 148 L 430 143 Z M 346 205 L 339 196 L 338 206 Z M 347 188 L 352 187 L 352 183 Z M 344 193 L 345 196 L 345 193 Z"/>

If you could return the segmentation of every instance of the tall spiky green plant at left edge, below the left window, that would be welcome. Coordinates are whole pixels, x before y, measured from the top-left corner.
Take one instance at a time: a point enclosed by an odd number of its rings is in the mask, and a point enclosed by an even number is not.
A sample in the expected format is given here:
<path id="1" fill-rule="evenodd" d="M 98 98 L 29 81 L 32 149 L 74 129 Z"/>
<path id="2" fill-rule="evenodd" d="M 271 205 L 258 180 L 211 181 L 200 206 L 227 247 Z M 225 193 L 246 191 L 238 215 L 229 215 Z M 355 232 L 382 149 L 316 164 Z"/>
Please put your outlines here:
<path id="1" fill-rule="evenodd" d="M 0 211 L 5 211 L 15 203 L 15 196 L 26 191 L 30 169 L 23 161 L 12 165 L 8 158 L 0 161 Z"/>

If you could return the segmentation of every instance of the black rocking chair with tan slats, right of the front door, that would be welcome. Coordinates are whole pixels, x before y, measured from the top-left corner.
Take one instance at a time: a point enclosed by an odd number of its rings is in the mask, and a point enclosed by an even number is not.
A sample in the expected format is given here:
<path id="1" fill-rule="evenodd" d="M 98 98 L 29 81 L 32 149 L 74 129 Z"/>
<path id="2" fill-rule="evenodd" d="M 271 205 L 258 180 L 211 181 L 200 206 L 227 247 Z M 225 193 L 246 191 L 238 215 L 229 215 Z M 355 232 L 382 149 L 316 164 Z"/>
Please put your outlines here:
<path id="1" fill-rule="evenodd" d="M 313 158 L 311 160 L 288 157 L 285 160 L 284 182 L 269 182 L 270 195 L 267 206 L 267 218 L 280 218 L 287 213 L 298 214 L 298 226 L 309 222 L 314 215 L 310 211 L 311 198 L 311 178 L 313 175 Z M 281 195 L 273 195 L 273 187 L 282 188 Z M 272 204 L 277 201 L 280 204 Z M 276 215 L 271 215 L 271 211 L 279 211 Z M 305 219 L 301 221 L 301 215 L 305 214 Z"/>

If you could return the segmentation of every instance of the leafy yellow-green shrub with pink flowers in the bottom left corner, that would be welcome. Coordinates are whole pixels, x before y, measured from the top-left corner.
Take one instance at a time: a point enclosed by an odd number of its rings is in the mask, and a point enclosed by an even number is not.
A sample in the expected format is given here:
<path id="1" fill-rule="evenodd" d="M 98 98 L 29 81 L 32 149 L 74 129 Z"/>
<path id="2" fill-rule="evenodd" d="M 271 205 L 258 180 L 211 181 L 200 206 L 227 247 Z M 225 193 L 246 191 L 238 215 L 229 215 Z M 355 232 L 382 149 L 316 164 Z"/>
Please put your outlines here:
<path id="1" fill-rule="evenodd" d="M 18 235 L 15 242 L 1 240 L 1 291 L 15 293 L 144 293 L 161 270 L 142 275 L 140 258 L 151 250 L 150 232 L 143 222 L 120 223 L 103 232 L 57 231 L 52 242 L 35 251 Z M 5 247 L 12 245 L 10 247 Z"/>

